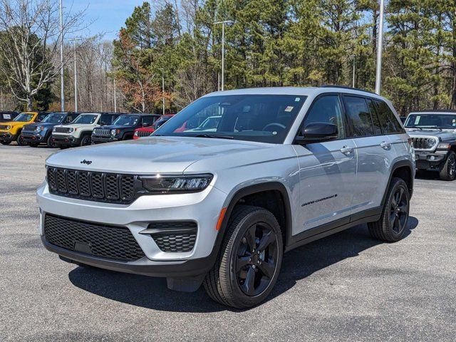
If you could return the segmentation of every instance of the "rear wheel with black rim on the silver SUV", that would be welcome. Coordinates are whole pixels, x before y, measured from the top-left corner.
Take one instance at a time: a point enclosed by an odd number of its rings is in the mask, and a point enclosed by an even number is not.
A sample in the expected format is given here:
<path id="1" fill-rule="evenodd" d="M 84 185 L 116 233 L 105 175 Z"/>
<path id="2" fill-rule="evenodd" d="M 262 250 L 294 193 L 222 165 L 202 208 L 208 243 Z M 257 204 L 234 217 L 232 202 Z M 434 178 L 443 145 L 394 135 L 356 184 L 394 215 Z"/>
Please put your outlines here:
<path id="1" fill-rule="evenodd" d="M 399 203 L 397 203 L 399 202 Z M 410 192 L 402 178 L 393 178 L 383 212 L 377 222 L 368 223 L 372 237 L 385 242 L 396 242 L 403 238 L 410 209 Z"/>

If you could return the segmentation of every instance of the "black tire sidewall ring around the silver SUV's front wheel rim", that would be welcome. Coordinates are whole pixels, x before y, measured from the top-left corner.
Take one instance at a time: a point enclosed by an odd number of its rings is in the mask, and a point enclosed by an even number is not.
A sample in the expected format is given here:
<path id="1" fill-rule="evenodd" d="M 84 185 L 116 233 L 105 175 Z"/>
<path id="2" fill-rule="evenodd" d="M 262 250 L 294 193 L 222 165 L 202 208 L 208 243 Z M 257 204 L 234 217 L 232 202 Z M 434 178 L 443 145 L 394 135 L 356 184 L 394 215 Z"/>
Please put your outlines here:
<path id="1" fill-rule="evenodd" d="M 247 296 L 244 294 L 242 289 L 239 288 L 239 284 L 237 283 L 237 275 L 236 275 L 236 261 L 237 261 L 237 248 L 241 243 L 242 237 L 247 232 L 247 229 L 252 226 L 252 224 L 257 222 L 263 222 L 271 227 L 271 231 L 276 234 L 276 243 L 277 246 L 277 267 L 274 273 L 274 276 L 271 279 L 271 283 L 269 286 L 259 295 L 257 296 Z M 230 281 L 230 288 L 234 299 L 237 300 L 236 306 L 239 307 L 251 307 L 255 306 L 261 301 L 264 301 L 267 296 L 271 293 L 272 289 L 274 288 L 274 284 L 276 284 L 277 278 L 279 277 L 281 261 L 283 257 L 283 242 L 281 237 L 281 230 L 279 224 L 277 223 L 274 215 L 266 210 L 257 210 L 255 212 L 251 212 L 247 214 L 239 224 L 237 224 L 237 228 L 232 235 L 232 243 L 229 244 L 229 265 L 227 269 L 229 269 L 229 281 Z"/>

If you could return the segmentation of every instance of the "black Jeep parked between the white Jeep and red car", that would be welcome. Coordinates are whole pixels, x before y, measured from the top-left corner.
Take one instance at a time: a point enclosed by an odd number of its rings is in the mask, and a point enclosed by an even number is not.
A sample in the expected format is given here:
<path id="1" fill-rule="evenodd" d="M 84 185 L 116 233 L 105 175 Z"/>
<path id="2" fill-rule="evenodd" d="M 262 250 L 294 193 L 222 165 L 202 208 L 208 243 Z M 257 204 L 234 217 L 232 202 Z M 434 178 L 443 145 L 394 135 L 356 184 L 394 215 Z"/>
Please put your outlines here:
<path id="1" fill-rule="evenodd" d="M 92 133 L 92 143 L 133 139 L 135 129 L 153 125 L 160 116 L 144 113 L 120 115 L 112 125 L 95 128 Z"/>

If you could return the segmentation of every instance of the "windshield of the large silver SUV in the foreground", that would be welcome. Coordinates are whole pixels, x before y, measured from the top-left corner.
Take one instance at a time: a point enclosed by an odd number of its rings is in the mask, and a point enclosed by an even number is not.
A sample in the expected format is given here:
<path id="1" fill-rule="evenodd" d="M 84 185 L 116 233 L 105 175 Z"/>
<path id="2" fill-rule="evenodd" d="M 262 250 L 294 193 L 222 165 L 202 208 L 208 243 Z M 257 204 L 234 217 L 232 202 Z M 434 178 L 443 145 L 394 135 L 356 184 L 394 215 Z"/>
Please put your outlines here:
<path id="1" fill-rule="evenodd" d="M 204 138 L 282 143 L 305 100 L 296 95 L 208 96 L 184 108 L 153 135 L 204 133 Z"/>

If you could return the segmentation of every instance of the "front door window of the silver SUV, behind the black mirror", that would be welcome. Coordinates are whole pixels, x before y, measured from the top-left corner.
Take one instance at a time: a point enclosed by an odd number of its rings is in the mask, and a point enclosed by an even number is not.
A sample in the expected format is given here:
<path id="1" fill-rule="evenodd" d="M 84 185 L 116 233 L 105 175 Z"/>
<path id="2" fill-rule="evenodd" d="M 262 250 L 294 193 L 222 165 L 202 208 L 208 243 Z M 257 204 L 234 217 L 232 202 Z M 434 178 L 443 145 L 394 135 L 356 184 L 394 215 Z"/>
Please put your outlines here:
<path id="1" fill-rule="evenodd" d="M 338 139 L 345 138 L 341 101 L 338 95 L 326 95 L 318 98 L 304 118 L 304 125 L 309 123 L 332 123 L 337 125 Z"/>

